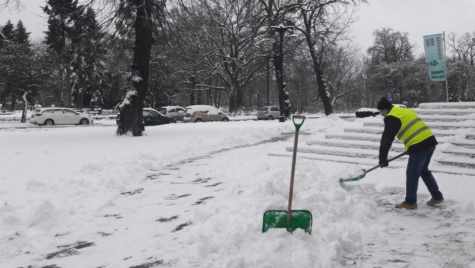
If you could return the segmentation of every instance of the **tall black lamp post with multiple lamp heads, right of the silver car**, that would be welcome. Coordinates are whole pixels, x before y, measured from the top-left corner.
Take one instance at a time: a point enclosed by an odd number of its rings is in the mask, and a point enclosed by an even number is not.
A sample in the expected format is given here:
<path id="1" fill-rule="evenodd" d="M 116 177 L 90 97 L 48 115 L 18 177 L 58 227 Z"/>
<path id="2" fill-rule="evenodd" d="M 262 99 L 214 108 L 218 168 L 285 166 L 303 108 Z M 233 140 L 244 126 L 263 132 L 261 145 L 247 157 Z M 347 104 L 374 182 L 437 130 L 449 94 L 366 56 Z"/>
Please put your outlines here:
<path id="1" fill-rule="evenodd" d="M 279 83 L 279 106 L 281 106 L 281 115 L 279 116 L 279 122 L 285 122 L 285 113 L 284 113 L 284 53 L 283 53 L 283 45 L 284 45 L 284 33 L 286 31 L 290 31 L 290 35 L 288 36 L 288 44 L 292 45 L 292 43 L 296 39 L 296 35 L 293 34 L 293 26 L 271 26 L 271 31 L 269 35 L 269 45 L 274 43 L 274 35 L 275 32 L 279 33 L 279 76 L 280 76 L 280 83 Z"/>

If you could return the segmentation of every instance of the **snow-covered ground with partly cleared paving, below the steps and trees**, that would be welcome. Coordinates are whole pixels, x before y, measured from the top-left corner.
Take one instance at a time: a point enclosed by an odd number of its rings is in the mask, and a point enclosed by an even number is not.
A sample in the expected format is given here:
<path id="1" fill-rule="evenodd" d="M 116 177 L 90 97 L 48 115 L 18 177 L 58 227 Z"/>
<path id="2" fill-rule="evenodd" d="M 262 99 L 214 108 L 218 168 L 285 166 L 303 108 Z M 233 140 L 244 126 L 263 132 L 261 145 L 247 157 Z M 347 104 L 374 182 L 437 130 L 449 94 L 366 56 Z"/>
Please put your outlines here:
<path id="1" fill-rule="evenodd" d="M 306 119 L 299 143 L 360 120 Z M 370 167 L 297 154 L 292 209 L 313 214 L 312 234 L 262 233 L 264 212 L 287 208 L 291 158 L 268 153 L 293 145 L 291 121 L 179 123 L 142 137 L 117 136 L 107 119 L 31 126 L 0 121 L 1 268 L 475 268 L 473 176 L 435 173 L 444 205 L 425 204 L 421 181 L 419 208 L 396 210 L 404 169 L 345 190 L 339 178 Z"/>

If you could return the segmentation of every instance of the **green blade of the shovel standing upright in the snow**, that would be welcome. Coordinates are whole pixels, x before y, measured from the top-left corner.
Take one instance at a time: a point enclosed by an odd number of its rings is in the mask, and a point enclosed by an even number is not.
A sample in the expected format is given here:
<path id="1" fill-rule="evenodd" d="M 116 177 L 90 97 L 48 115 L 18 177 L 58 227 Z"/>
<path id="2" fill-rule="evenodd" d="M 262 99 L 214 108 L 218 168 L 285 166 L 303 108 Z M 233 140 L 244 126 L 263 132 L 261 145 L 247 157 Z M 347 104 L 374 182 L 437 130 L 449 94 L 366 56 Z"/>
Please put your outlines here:
<path id="1" fill-rule="evenodd" d="M 290 211 L 290 223 L 287 223 L 286 210 L 268 210 L 264 213 L 262 232 L 267 232 L 270 228 L 285 228 L 287 231 L 293 232 L 300 228 L 310 234 L 312 219 L 312 213 L 308 210 L 292 210 Z"/>

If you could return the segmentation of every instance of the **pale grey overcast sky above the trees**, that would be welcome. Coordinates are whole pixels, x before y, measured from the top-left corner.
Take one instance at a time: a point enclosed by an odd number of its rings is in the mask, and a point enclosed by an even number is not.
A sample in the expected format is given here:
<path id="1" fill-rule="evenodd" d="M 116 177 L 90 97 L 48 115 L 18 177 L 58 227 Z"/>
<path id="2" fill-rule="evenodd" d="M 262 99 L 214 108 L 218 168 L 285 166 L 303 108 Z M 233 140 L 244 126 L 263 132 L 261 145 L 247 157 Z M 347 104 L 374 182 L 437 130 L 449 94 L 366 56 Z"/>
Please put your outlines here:
<path id="1" fill-rule="evenodd" d="M 0 0 L 0 3 L 4 0 Z M 45 0 L 21 0 L 27 7 L 21 13 L 0 12 L 0 25 L 8 19 L 16 24 L 23 21 L 31 37 L 43 36 L 47 30 L 45 14 L 40 5 Z M 422 53 L 423 37 L 445 32 L 457 33 L 461 36 L 475 31 L 472 13 L 475 0 L 369 0 L 370 5 L 362 5 L 358 16 L 359 21 L 353 26 L 355 41 L 365 48 L 373 43 L 372 33 L 382 27 L 390 27 L 395 31 L 408 32 L 411 43 L 421 46 L 417 52 Z M 469 13 L 470 12 L 470 13 Z"/>

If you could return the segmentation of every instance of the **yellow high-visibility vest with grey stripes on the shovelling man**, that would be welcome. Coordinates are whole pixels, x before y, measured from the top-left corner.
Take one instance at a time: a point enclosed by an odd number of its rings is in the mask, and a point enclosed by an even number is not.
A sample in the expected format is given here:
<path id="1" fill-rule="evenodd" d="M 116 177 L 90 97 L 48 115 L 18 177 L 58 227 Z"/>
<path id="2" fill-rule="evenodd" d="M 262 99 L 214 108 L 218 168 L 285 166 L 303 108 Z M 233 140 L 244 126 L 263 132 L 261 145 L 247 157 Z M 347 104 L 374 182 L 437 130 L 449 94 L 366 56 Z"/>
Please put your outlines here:
<path id="1" fill-rule="evenodd" d="M 392 115 L 401 120 L 402 125 L 397 132 L 396 137 L 404 142 L 406 151 L 409 146 L 419 143 L 434 135 L 427 127 L 426 123 L 424 123 L 424 121 L 422 121 L 413 110 L 394 106 L 387 115 Z"/>

